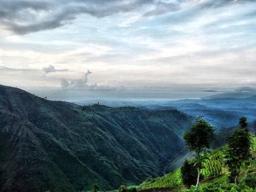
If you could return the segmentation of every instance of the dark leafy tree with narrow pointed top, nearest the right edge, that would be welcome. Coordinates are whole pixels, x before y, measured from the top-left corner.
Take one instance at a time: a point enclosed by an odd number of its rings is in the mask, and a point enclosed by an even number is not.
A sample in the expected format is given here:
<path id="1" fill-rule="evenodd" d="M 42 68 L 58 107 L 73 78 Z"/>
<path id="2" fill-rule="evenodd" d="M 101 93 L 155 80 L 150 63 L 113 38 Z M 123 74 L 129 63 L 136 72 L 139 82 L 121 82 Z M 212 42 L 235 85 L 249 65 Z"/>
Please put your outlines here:
<path id="1" fill-rule="evenodd" d="M 227 136 L 227 149 L 224 159 L 230 171 L 231 182 L 237 183 L 238 173 L 242 164 L 249 160 L 251 147 L 251 134 L 248 132 L 246 118 L 239 120 L 240 127 L 234 133 Z"/>

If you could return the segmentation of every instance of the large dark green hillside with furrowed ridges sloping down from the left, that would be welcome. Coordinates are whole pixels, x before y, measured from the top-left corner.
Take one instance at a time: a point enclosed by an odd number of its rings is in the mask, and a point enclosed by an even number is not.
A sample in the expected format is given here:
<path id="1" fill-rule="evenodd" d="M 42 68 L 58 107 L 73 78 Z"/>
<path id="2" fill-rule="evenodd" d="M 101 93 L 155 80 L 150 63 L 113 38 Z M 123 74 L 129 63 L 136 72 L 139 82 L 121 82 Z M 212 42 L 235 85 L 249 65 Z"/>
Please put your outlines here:
<path id="1" fill-rule="evenodd" d="M 193 118 L 46 100 L 0 85 L 0 191 L 78 191 L 159 176 Z"/>

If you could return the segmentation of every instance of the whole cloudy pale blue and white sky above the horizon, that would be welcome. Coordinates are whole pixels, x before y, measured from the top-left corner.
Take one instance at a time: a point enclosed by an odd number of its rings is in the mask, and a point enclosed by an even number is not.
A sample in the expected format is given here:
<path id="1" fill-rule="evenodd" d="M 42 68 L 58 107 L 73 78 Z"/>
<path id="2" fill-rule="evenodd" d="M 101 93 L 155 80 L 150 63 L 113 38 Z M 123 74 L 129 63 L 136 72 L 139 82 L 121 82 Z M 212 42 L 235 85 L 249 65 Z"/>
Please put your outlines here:
<path id="1" fill-rule="evenodd" d="M 256 0 L 0 0 L 0 84 L 189 97 L 255 88 L 255 74 Z"/>

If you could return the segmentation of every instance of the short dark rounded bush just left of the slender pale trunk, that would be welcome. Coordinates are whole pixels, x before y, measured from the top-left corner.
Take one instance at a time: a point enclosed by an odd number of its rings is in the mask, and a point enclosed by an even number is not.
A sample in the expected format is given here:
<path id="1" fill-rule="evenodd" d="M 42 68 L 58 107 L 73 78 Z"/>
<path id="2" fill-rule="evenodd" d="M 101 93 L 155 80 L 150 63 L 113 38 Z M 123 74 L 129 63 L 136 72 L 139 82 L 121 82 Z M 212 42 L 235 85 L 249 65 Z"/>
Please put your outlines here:
<path id="1" fill-rule="evenodd" d="M 196 183 L 196 174 L 197 170 L 196 167 L 193 166 L 189 160 L 185 160 L 180 167 L 181 177 L 183 184 L 186 186 L 191 186 L 192 184 Z"/>

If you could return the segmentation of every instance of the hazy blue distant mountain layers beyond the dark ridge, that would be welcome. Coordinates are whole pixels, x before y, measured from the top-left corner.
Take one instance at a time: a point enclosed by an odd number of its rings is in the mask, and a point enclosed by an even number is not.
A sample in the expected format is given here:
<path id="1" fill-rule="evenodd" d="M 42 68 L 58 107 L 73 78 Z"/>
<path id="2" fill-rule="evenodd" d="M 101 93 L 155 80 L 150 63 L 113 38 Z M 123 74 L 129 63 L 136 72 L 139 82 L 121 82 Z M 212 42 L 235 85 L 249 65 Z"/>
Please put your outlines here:
<path id="1" fill-rule="evenodd" d="M 244 92 L 242 92 L 244 93 Z M 253 91 L 251 91 L 253 93 Z M 236 126 L 240 117 L 256 120 L 256 93 L 248 98 L 184 99 L 178 101 L 100 101 L 109 106 L 137 106 L 141 109 L 176 109 L 190 116 L 203 115 L 218 130 Z M 90 103 L 80 101 L 79 104 Z M 92 103 L 92 101 L 91 101 Z"/>

